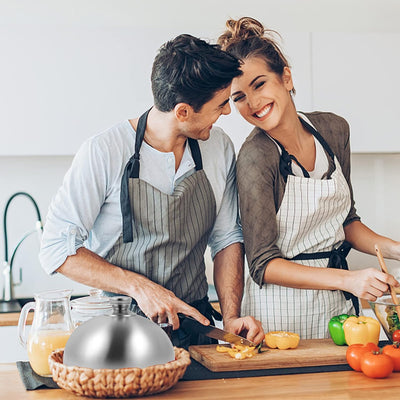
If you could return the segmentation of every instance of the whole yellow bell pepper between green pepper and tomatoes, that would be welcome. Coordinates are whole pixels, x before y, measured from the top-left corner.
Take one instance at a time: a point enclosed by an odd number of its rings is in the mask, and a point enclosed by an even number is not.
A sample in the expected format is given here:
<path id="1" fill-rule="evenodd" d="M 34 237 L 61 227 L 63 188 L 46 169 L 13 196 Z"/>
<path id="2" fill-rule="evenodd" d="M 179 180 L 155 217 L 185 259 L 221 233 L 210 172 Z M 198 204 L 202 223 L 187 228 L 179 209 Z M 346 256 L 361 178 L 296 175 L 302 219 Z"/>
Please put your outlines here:
<path id="1" fill-rule="evenodd" d="M 343 323 L 343 332 L 346 343 L 352 344 L 367 344 L 379 342 L 379 334 L 381 325 L 372 317 L 349 317 Z"/>

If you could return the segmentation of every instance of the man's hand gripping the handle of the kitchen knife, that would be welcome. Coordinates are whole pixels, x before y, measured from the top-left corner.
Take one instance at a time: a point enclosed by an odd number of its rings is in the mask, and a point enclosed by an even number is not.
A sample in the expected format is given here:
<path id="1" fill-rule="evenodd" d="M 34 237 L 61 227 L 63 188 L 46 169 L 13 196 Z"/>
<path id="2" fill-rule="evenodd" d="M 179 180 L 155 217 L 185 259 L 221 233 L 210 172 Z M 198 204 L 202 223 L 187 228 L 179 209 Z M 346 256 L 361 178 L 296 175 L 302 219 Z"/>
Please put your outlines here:
<path id="1" fill-rule="evenodd" d="M 178 313 L 189 315 L 203 325 L 209 325 L 210 321 L 195 308 L 175 296 L 173 292 L 141 277 L 140 285 L 137 285 L 135 298 L 138 306 L 144 314 L 156 323 L 169 322 L 173 329 L 179 328 Z"/>

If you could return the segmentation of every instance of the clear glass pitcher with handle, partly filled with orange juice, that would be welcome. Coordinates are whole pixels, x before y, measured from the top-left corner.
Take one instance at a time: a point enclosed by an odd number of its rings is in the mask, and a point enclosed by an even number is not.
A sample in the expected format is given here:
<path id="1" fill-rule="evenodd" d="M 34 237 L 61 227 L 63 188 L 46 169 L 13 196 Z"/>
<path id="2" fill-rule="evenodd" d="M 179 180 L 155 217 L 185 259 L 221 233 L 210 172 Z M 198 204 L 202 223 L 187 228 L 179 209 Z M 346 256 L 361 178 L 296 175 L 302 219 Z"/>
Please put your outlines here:
<path id="1" fill-rule="evenodd" d="M 49 290 L 34 296 L 35 301 L 24 305 L 18 322 L 18 336 L 28 350 L 32 369 L 41 376 L 51 376 L 48 358 L 52 351 L 65 347 L 74 330 L 69 299 L 72 290 Z M 32 327 L 26 338 L 26 320 L 34 310 Z"/>

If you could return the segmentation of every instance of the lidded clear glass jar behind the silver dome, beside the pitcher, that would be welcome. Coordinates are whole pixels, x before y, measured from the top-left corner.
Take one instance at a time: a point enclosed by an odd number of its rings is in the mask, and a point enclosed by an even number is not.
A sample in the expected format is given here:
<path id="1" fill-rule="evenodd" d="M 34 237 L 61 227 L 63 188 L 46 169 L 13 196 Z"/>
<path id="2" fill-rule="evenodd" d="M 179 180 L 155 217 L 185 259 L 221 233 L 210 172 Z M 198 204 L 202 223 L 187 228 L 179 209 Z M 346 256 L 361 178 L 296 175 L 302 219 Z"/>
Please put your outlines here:
<path id="1" fill-rule="evenodd" d="M 75 327 L 93 317 L 112 314 L 110 298 L 104 296 L 100 289 L 91 289 L 89 296 L 71 300 L 71 307 L 71 315 Z"/>

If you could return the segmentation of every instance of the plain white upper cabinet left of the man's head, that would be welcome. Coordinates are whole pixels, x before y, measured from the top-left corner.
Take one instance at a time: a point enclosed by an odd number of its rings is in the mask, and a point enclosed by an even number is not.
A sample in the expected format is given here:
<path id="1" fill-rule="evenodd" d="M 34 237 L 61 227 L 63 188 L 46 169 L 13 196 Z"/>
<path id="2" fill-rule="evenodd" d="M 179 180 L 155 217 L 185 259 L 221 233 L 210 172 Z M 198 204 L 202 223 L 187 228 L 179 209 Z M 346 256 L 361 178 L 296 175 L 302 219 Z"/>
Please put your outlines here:
<path id="1" fill-rule="evenodd" d="M 164 38 L 124 27 L 0 28 L 0 154 L 74 154 L 85 138 L 149 108 Z"/>

